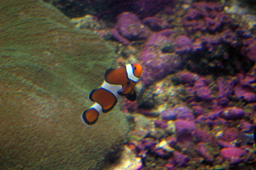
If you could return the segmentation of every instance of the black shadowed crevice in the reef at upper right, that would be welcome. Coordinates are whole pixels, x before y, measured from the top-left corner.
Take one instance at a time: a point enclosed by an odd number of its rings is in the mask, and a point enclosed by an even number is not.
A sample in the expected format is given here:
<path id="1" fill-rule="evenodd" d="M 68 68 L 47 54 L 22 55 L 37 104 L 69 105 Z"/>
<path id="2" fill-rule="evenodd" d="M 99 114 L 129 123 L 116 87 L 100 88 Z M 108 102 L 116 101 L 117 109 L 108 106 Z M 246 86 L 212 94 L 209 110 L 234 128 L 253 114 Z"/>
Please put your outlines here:
<path id="1" fill-rule="evenodd" d="M 246 73 L 254 65 L 253 61 L 240 53 L 239 48 L 233 48 L 228 44 L 215 46 L 212 52 L 205 50 L 192 53 L 186 60 L 186 69 L 189 71 L 216 77 Z"/>

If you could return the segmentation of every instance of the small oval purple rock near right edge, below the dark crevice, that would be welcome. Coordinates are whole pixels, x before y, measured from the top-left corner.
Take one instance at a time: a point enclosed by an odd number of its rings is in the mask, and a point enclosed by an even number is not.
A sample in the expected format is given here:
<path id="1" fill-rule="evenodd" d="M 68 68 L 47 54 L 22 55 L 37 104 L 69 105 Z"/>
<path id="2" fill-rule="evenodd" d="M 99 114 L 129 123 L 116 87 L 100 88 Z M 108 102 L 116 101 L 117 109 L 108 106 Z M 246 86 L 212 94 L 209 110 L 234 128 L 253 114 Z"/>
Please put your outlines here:
<path id="1" fill-rule="evenodd" d="M 227 107 L 221 114 L 221 117 L 226 120 L 241 119 L 245 115 L 244 110 L 238 107 Z"/>

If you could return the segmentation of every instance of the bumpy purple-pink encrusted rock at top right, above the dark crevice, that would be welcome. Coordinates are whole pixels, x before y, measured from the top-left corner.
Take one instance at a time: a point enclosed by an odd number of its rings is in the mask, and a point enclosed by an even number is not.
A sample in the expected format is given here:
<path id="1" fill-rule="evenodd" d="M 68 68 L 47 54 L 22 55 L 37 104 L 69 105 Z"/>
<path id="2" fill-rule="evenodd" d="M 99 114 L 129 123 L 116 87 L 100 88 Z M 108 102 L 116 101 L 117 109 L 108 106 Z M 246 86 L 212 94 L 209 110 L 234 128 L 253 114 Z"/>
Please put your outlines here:
<path id="1" fill-rule="evenodd" d="M 192 3 L 192 8 L 183 16 L 183 25 L 189 32 L 215 32 L 226 23 L 230 23 L 230 18 L 224 14 L 220 3 Z"/>

